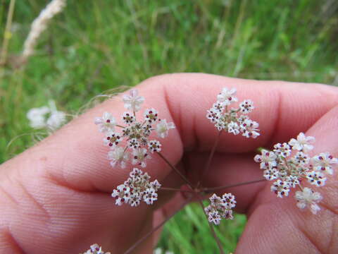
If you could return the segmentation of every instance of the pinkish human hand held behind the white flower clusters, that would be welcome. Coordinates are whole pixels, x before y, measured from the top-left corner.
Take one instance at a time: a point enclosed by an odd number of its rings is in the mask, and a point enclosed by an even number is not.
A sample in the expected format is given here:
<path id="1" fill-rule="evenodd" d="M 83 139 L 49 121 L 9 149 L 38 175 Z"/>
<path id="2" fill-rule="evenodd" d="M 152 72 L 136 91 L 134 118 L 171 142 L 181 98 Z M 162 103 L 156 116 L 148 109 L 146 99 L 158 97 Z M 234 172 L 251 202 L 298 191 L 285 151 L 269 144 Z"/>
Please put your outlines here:
<path id="1" fill-rule="evenodd" d="M 206 109 L 223 87 L 236 87 L 241 99 L 252 99 L 251 118 L 260 123 L 261 136 L 246 139 L 223 134 L 205 179 L 198 179 L 217 131 L 205 117 Z M 315 151 L 338 156 L 334 137 L 338 127 L 338 89 L 327 85 L 253 81 L 206 74 L 163 75 L 138 87 L 146 106 L 177 128 L 163 140 L 163 155 L 203 186 L 262 178 L 253 162 L 257 147 L 271 147 L 300 132 L 316 138 Z M 123 253 L 150 231 L 154 209 L 158 217 L 170 213 L 184 198 L 162 191 L 156 206 L 118 207 L 113 188 L 123 183 L 132 167 L 112 168 L 93 123 L 111 111 L 120 116 L 120 99 L 111 99 L 75 119 L 60 131 L 1 165 L 0 253 L 79 253 L 92 243 Z M 179 187 L 182 181 L 154 155 L 146 169 L 162 186 Z M 276 198 L 269 183 L 227 189 L 236 195 L 237 211 L 249 216 L 237 253 L 337 253 L 337 174 L 320 188 L 324 196 L 318 215 L 302 212 L 294 198 Z M 151 253 L 148 238 L 137 253 Z"/>

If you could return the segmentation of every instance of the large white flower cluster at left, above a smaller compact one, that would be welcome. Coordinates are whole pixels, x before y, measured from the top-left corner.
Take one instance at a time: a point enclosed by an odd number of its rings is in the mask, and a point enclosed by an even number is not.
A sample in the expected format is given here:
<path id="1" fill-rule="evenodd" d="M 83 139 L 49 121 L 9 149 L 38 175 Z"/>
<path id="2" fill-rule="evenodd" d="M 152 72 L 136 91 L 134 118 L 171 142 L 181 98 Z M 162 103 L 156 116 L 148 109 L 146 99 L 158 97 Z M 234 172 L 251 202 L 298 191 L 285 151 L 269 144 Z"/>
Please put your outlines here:
<path id="1" fill-rule="evenodd" d="M 160 152 L 161 143 L 158 140 L 149 140 L 152 131 L 156 131 L 158 137 L 165 138 L 168 131 L 175 128 L 174 123 L 167 123 L 165 119 L 158 119 L 156 109 L 146 109 L 144 111 L 144 120 L 137 121 L 136 112 L 141 109 L 141 104 L 144 102 L 144 97 L 139 96 L 137 90 L 131 90 L 130 95 L 123 97 L 125 108 L 130 111 L 125 111 L 122 115 L 124 126 L 118 125 L 115 118 L 108 112 L 105 112 L 102 117 L 96 117 L 95 123 L 99 125 L 99 131 L 105 133 L 104 144 L 111 147 L 108 152 L 108 159 L 111 161 L 111 166 L 115 167 L 119 164 L 121 168 L 126 167 L 126 162 L 130 158 L 130 150 L 132 153 L 132 164 L 139 164 L 141 167 L 146 167 L 146 159 L 151 158 L 149 152 Z M 156 126 L 154 127 L 154 124 Z M 116 127 L 120 127 L 122 131 L 115 131 Z M 126 140 L 123 147 L 120 143 Z"/>

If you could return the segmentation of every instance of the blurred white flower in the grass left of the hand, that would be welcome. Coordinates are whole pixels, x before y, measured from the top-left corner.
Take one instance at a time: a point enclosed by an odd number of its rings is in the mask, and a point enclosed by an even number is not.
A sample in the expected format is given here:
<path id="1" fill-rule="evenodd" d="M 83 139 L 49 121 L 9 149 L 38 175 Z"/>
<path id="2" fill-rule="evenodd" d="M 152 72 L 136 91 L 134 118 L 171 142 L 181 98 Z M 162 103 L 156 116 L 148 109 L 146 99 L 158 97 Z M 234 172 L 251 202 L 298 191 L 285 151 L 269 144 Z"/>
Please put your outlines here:
<path id="1" fill-rule="evenodd" d="M 30 109 L 27 112 L 27 119 L 32 128 L 48 128 L 55 131 L 65 123 L 65 113 L 58 111 L 55 102 L 50 100 L 48 106 Z"/>

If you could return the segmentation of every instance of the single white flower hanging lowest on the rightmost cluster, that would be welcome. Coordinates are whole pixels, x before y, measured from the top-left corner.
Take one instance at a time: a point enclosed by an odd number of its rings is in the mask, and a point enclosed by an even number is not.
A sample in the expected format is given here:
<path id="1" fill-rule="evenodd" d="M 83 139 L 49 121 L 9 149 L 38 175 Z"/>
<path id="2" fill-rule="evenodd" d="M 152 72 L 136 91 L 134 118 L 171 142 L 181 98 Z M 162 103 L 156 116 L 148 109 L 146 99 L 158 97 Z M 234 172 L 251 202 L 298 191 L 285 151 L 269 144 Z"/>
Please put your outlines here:
<path id="1" fill-rule="evenodd" d="M 297 200 L 297 207 L 304 209 L 307 206 L 313 214 L 317 214 L 320 210 L 319 205 L 317 205 L 320 200 L 322 200 L 322 195 L 318 192 L 314 192 L 311 188 L 303 188 L 303 191 L 296 191 L 294 197 Z"/>

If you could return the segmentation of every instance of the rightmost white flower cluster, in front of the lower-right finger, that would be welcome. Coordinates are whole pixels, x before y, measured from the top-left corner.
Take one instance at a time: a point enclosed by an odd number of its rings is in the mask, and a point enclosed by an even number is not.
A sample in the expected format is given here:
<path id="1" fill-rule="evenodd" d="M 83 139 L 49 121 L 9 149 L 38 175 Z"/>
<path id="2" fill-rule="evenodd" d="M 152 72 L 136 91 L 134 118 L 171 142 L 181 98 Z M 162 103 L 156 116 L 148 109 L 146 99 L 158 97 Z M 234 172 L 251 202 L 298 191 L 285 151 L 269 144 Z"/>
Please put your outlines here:
<path id="1" fill-rule="evenodd" d="M 271 191 L 277 197 L 283 198 L 289 195 L 291 188 L 299 186 L 301 191 L 295 194 L 297 206 L 300 209 L 308 206 L 316 214 L 320 210 L 317 203 L 322 200 L 322 196 L 311 188 L 303 188 L 301 180 L 305 179 L 317 187 L 325 186 L 325 174 L 333 174 L 332 165 L 337 164 L 338 159 L 329 152 L 311 158 L 306 152 L 313 150 L 314 141 L 315 138 L 299 133 L 297 139 L 292 138 L 289 143 L 274 145 L 273 151 L 262 150 L 261 155 L 256 155 L 254 160 L 260 163 L 265 179 L 274 181 Z"/>

